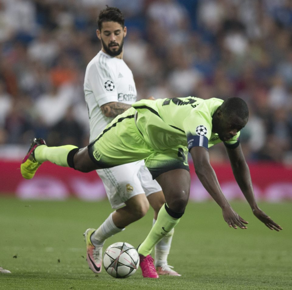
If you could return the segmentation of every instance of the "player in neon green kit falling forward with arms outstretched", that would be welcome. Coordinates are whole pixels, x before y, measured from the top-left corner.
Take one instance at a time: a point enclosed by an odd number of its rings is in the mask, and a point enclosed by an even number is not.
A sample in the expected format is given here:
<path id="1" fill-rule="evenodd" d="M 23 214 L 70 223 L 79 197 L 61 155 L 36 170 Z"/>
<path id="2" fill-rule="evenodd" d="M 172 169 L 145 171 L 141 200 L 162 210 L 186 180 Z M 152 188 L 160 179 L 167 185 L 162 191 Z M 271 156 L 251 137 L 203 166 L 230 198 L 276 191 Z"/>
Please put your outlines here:
<path id="1" fill-rule="evenodd" d="M 208 148 L 222 141 L 235 179 L 254 215 L 269 229 L 282 230 L 255 201 L 249 168 L 238 139 L 248 115 L 246 103 L 236 97 L 225 101 L 195 97 L 141 100 L 113 119 L 85 148 L 47 147 L 42 139 L 34 139 L 21 164 L 21 173 L 30 179 L 45 161 L 89 172 L 144 159 L 166 200 L 156 223 L 138 247 L 142 272 L 153 272 L 153 277 L 157 277 L 150 253 L 178 224 L 185 211 L 190 189 L 188 151 L 199 180 L 221 207 L 229 227 L 246 229 L 248 222 L 228 203 L 209 162 Z"/>

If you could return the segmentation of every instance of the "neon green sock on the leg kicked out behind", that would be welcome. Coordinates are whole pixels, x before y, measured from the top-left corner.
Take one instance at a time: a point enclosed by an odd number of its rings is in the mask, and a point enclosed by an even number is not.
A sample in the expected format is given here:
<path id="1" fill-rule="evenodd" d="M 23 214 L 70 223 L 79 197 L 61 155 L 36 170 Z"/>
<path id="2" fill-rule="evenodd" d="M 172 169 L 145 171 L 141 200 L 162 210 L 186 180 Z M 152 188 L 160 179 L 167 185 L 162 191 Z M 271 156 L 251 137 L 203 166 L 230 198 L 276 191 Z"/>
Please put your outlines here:
<path id="1" fill-rule="evenodd" d="M 40 145 L 34 150 L 34 157 L 39 163 L 50 161 L 51 163 L 55 163 L 60 166 L 69 167 L 67 163 L 67 156 L 68 153 L 74 148 L 78 147 L 74 145 L 64 145 L 58 147 L 47 147 L 47 145 Z"/>

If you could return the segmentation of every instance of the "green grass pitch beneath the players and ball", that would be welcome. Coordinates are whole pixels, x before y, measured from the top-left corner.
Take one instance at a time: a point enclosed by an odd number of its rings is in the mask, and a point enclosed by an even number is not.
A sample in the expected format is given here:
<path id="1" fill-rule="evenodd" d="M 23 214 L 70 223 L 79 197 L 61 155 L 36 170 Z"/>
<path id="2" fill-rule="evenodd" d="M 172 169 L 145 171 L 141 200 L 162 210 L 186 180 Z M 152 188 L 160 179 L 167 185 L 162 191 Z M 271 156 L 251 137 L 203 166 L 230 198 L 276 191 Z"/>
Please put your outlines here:
<path id="1" fill-rule="evenodd" d="M 271 231 L 246 202 L 234 209 L 248 229 L 231 229 L 214 202 L 189 203 L 176 227 L 169 264 L 182 277 L 127 279 L 98 276 L 85 261 L 83 232 L 109 215 L 108 201 L 32 201 L 0 197 L 0 289 L 292 289 L 292 204 L 260 203 L 284 229 Z M 137 246 L 151 228 L 153 212 L 109 238 Z"/>

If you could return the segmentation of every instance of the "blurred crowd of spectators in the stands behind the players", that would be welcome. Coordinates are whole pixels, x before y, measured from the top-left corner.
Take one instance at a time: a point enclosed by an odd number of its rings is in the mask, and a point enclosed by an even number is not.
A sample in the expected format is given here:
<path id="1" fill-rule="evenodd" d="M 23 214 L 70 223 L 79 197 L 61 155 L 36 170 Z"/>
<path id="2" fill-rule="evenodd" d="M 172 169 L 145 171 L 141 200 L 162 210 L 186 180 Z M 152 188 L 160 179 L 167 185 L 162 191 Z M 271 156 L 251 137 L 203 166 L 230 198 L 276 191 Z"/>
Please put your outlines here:
<path id="1" fill-rule="evenodd" d="M 241 97 L 246 159 L 292 165 L 290 0 L 0 0 L 0 150 L 88 144 L 83 81 L 106 5 L 124 13 L 138 100 Z"/>

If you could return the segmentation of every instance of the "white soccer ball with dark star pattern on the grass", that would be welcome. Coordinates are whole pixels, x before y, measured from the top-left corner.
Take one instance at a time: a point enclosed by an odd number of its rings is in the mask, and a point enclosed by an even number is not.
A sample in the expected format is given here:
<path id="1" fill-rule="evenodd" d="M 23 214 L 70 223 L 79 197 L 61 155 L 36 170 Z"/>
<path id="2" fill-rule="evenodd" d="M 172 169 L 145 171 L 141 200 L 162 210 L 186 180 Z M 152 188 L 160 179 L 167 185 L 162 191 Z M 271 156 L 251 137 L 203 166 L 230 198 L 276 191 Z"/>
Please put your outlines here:
<path id="1" fill-rule="evenodd" d="M 114 243 L 103 253 L 103 267 L 115 278 L 127 278 L 133 275 L 139 263 L 137 250 L 125 242 Z"/>

